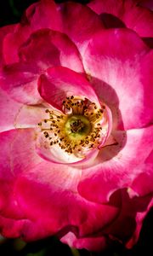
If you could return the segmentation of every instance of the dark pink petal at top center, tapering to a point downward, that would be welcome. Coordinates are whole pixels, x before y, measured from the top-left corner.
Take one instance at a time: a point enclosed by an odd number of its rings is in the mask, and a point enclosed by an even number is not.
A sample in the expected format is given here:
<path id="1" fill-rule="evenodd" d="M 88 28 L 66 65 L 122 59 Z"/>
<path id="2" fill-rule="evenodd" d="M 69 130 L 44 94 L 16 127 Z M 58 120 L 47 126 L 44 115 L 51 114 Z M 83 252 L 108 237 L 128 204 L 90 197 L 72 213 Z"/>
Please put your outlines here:
<path id="1" fill-rule="evenodd" d="M 88 6 L 80 3 L 61 3 L 58 6 L 58 10 L 62 20 L 63 32 L 77 44 L 79 49 L 95 32 L 104 27 L 99 16 Z"/>

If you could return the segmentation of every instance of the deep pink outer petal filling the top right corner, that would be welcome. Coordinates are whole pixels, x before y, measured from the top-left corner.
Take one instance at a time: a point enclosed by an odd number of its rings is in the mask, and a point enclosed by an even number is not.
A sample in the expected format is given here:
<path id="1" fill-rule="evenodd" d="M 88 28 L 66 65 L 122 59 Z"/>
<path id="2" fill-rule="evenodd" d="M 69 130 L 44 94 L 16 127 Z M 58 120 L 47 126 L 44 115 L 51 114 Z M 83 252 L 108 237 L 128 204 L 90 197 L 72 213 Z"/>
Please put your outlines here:
<path id="1" fill-rule="evenodd" d="M 94 0 L 88 6 L 99 14 L 106 27 L 120 27 L 121 21 L 140 37 L 153 37 L 153 15 L 148 9 L 136 5 L 140 1 L 133 0 Z M 113 21 L 118 18 L 120 22 Z M 115 20 L 116 21 L 116 20 Z"/>

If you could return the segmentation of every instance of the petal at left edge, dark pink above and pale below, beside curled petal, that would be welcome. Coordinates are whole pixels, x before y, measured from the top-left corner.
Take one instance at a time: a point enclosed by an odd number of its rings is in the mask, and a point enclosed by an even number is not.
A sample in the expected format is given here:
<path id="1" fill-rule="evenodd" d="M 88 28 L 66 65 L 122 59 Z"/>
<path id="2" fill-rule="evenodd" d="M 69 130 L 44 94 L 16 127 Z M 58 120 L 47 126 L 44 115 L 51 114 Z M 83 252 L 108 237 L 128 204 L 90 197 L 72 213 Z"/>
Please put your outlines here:
<path id="1" fill-rule="evenodd" d="M 32 63 L 15 63 L 3 67 L 0 85 L 15 101 L 25 104 L 42 102 L 37 91 L 37 67 Z"/>

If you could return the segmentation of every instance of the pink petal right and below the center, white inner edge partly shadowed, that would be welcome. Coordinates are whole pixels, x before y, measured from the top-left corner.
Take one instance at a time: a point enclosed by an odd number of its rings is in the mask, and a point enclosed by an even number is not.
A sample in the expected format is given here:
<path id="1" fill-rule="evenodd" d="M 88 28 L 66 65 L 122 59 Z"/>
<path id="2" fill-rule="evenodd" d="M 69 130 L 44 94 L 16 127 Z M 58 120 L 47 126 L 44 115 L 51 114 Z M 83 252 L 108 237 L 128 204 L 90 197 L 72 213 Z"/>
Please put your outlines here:
<path id="1" fill-rule="evenodd" d="M 104 202 L 109 201 L 116 189 L 131 187 L 141 172 L 139 166 L 152 150 L 152 129 L 127 131 L 127 138 L 117 132 L 115 138 L 119 144 L 102 149 L 98 162 L 83 172 L 79 193 L 88 200 Z"/>

